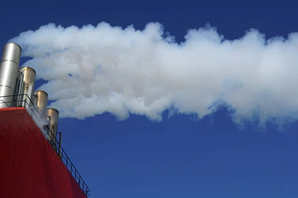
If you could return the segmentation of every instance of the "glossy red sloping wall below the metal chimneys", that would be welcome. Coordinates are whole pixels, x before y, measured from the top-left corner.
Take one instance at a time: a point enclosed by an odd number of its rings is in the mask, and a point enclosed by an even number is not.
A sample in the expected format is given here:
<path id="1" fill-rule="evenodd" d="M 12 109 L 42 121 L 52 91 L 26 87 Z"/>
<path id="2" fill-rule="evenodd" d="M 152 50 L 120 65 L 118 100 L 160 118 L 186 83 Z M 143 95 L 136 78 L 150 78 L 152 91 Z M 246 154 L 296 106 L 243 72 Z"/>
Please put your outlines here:
<path id="1" fill-rule="evenodd" d="M 0 198 L 86 198 L 23 107 L 0 109 Z"/>

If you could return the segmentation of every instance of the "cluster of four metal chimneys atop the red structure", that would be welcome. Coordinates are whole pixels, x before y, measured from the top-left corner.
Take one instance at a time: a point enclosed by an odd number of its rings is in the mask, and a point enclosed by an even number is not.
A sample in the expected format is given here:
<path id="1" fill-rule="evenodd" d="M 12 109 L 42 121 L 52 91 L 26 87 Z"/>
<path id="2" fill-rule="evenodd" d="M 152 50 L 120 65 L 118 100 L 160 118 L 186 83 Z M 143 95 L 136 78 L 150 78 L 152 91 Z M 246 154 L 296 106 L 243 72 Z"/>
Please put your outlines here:
<path id="1" fill-rule="evenodd" d="M 15 43 L 7 43 L 0 62 L 0 108 L 24 107 L 49 140 L 57 139 L 59 111 L 47 108 L 48 94 L 34 91 L 36 71 L 20 67 L 22 49 Z M 46 135 L 45 134 L 45 135 Z M 54 138 L 53 138 L 54 137 Z"/>

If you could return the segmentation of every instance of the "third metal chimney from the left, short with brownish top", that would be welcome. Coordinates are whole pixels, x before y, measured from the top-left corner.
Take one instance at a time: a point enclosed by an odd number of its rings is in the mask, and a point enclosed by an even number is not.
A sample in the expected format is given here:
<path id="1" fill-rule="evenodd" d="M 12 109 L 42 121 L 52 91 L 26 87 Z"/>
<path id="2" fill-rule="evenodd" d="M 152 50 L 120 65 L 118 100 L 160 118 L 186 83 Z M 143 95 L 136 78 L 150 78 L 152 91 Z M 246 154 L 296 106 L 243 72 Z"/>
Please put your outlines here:
<path id="1" fill-rule="evenodd" d="M 37 90 L 33 93 L 32 102 L 42 117 L 45 116 L 48 104 L 48 93 Z"/>

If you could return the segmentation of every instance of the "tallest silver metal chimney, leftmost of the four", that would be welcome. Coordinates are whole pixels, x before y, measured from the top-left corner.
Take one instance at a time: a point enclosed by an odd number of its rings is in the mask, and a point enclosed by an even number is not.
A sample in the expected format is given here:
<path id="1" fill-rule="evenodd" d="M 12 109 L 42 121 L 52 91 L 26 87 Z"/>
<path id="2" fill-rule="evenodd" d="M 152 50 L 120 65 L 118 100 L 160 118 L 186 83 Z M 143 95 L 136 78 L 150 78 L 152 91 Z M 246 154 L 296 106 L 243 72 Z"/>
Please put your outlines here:
<path id="1" fill-rule="evenodd" d="M 22 48 L 14 43 L 5 44 L 0 62 L 0 108 L 14 106 L 17 70 Z"/>

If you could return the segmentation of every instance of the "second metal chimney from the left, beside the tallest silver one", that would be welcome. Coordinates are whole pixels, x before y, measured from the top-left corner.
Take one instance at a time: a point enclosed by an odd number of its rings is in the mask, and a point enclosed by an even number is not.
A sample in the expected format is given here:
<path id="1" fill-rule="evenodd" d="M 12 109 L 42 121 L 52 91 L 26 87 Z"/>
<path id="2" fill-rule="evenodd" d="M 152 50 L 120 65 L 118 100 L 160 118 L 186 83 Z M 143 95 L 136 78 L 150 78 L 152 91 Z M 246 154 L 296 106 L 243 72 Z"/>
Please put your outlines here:
<path id="1" fill-rule="evenodd" d="M 17 106 L 23 106 L 27 110 L 32 106 L 32 100 L 36 71 L 31 67 L 20 67 L 17 76 L 18 97 Z"/>

